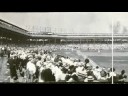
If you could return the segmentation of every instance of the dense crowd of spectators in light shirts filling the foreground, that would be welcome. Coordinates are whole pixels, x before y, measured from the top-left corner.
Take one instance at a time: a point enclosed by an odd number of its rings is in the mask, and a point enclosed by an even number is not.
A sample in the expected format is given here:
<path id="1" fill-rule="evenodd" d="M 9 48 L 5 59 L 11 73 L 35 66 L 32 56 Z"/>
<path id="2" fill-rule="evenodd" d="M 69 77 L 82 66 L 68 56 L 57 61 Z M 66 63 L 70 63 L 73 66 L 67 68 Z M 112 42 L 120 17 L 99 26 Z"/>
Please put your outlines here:
<path id="1" fill-rule="evenodd" d="M 102 45 L 103 46 L 103 45 Z M 7 67 L 10 82 L 125 82 L 125 70 L 92 66 L 90 59 L 65 57 L 54 54 L 57 50 L 74 50 L 79 45 L 38 45 L 1 48 L 8 55 Z M 6 50 L 5 50 L 6 49 Z"/>

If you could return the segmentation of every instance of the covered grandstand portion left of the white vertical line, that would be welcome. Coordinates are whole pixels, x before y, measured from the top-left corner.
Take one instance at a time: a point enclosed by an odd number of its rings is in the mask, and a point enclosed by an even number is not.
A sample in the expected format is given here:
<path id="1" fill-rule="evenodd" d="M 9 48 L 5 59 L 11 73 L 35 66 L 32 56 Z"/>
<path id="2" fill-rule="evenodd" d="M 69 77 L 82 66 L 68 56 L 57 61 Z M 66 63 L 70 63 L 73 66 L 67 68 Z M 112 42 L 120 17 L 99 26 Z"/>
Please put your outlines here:
<path id="1" fill-rule="evenodd" d="M 73 34 L 52 34 L 49 32 L 43 32 L 43 34 L 32 34 L 27 30 L 24 30 L 18 26 L 15 26 L 11 23 L 8 23 L 4 20 L 0 20 L 0 38 L 1 42 L 31 42 L 31 41 L 47 41 L 49 42 L 50 39 L 54 41 L 53 43 L 61 43 L 61 41 L 77 41 L 77 42 L 99 42 L 100 41 L 111 41 L 111 35 L 107 34 L 81 34 L 81 35 L 73 35 Z M 47 40 L 46 40 L 47 39 Z"/>

